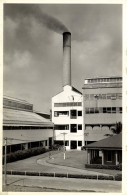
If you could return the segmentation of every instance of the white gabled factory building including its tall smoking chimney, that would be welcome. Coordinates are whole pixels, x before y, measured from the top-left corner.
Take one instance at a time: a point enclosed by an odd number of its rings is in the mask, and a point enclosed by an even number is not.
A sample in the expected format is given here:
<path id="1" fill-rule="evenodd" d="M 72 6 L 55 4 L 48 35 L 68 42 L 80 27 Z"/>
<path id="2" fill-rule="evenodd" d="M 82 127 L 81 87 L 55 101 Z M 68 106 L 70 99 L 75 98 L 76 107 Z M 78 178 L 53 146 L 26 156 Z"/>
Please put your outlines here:
<path id="1" fill-rule="evenodd" d="M 71 33 L 63 33 L 63 91 L 52 97 L 54 143 L 81 150 L 84 144 L 82 93 L 71 85 Z"/>

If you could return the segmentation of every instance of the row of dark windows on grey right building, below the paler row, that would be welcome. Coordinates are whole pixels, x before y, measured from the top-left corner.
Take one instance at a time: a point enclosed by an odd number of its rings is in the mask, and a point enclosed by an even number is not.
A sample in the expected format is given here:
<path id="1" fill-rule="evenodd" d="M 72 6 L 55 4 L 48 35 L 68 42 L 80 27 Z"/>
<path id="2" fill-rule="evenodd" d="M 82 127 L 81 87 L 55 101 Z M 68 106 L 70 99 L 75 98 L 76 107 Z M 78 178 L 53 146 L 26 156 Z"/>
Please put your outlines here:
<path id="1" fill-rule="evenodd" d="M 122 107 L 95 107 L 95 108 L 85 108 L 86 114 L 95 113 L 122 113 Z"/>

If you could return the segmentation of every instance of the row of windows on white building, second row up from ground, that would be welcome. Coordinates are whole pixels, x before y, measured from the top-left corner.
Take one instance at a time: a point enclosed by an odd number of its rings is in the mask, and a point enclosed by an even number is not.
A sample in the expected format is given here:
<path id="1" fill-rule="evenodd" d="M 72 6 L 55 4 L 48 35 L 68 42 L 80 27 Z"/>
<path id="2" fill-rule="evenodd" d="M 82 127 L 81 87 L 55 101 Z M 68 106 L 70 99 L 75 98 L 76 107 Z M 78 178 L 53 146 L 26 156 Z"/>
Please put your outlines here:
<path id="1" fill-rule="evenodd" d="M 69 130 L 69 125 L 54 125 L 55 130 Z M 70 124 L 70 132 L 76 133 L 77 130 L 82 130 L 82 124 Z"/>

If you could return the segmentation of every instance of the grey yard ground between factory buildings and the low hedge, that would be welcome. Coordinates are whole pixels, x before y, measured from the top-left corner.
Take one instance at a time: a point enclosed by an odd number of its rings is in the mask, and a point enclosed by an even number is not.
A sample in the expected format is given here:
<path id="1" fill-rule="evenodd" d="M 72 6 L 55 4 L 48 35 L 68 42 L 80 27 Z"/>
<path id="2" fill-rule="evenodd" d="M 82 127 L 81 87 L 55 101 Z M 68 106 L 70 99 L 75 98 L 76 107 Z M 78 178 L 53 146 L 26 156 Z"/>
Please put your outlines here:
<path id="1" fill-rule="evenodd" d="M 52 151 L 49 158 L 49 152 L 27 158 L 24 160 L 12 162 L 7 164 L 7 170 L 17 171 L 39 171 L 39 172 L 56 172 L 65 173 L 64 167 L 50 166 L 50 164 L 64 165 L 67 167 L 75 167 L 77 169 L 69 169 L 69 173 L 81 173 L 81 170 L 89 170 L 103 174 L 116 175 L 121 173 L 119 170 L 106 170 L 106 169 L 86 169 L 87 163 L 86 151 L 66 151 L 66 159 L 63 159 L 63 152 Z M 38 164 L 38 160 L 42 159 L 42 164 Z M 44 161 L 43 161 L 44 160 Z M 47 163 L 45 163 L 45 161 Z M 49 164 L 50 163 L 50 164 Z"/>

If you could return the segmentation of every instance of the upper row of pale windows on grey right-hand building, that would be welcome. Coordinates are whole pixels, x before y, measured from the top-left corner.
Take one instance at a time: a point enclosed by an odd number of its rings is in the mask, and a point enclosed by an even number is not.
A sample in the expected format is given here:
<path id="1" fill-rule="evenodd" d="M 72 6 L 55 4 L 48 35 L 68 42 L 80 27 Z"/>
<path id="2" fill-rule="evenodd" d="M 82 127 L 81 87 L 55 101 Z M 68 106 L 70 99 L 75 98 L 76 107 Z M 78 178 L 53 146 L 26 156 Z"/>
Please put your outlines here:
<path id="1" fill-rule="evenodd" d="M 84 99 L 86 100 L 98 100 L 98 99 L 122 99 L 122 93 L 107 93 L 107 94 L 85 94 Z"/>

